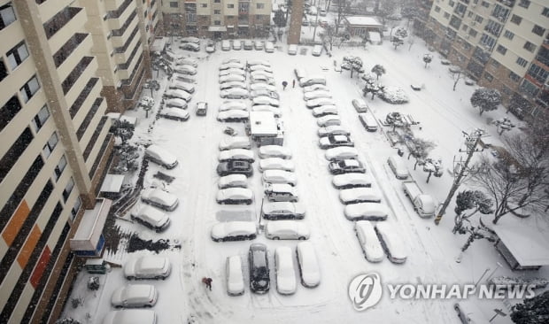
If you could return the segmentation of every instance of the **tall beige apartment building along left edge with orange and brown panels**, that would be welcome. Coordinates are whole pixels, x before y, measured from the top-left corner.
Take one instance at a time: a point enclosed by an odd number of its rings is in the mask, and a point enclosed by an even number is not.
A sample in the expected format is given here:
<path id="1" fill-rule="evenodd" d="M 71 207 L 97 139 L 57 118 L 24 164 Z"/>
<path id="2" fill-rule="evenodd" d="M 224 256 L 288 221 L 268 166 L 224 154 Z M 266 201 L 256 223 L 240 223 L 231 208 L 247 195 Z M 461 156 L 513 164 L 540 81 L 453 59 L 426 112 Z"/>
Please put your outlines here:
<path id="1" fill-rule="evenodd" d="M 161 29 L 150 0 L 0 0 L 0 322 L 52 323 L 78 256 L 103 249 L 97 198 Z M 86 226 L 80 226 L 85 224 Z M 101 224 L 101 222 L 97 222 Z M 93 237 L 88 251 L 75 234 Z"/>

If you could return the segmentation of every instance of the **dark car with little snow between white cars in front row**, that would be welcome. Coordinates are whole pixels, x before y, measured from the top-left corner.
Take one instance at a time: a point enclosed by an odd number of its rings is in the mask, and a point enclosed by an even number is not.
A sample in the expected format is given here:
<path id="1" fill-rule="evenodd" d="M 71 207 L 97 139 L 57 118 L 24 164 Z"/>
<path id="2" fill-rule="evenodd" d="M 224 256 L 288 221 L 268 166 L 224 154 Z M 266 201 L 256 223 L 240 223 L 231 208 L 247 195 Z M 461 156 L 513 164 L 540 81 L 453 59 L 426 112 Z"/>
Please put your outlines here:
<path id="1" fill-rule="evenodd" d="M 267 246 L 261 243 L 250 244 L 248 260 L 250 265 L 251 291 L 256 294 L 267 293 L 270 288 Z"/>

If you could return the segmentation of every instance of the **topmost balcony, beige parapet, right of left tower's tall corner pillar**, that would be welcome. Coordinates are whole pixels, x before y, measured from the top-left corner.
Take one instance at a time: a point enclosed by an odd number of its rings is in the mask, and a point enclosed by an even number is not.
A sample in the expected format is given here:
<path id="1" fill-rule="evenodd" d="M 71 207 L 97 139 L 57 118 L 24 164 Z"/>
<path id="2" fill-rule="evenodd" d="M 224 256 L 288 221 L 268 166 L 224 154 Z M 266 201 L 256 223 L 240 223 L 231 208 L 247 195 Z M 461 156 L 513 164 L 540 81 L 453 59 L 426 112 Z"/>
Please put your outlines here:
<path id="1" fill-rule="evenodd" d="M 75 32 L 84 31 L 86 20 L 84 8 L 68 7 L 43 24 L 51 52 L 55 53 L 62 48 Z"/>

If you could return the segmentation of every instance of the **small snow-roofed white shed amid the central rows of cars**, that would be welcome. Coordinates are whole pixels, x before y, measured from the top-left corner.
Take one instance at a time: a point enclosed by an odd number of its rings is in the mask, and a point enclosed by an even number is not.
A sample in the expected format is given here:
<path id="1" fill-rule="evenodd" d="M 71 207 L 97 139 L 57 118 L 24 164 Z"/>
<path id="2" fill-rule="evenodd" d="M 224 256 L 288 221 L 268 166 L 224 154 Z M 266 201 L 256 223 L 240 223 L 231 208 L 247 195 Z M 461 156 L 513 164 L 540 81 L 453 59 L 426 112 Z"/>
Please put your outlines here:
<path id="1" fill-rule="evenodd" d="M 282 145 L 284 142 L 282 127 L 274 118 L 273 112 L 250 112 L 246 131 L 259 146 Z"/>

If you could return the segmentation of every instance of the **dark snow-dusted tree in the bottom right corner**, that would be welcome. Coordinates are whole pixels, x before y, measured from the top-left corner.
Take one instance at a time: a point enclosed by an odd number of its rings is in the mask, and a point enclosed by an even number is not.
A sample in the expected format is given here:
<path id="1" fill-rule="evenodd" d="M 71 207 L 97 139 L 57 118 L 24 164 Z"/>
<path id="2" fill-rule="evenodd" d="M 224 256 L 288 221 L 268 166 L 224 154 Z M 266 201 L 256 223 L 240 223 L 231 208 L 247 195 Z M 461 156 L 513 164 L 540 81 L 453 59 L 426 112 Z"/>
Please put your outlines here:
<path id="1" fill-rule="evenodd" d="M 515 324 L 549 323 L 549 290 L 514 305 L 511 309 L 511 320 Z"/>

